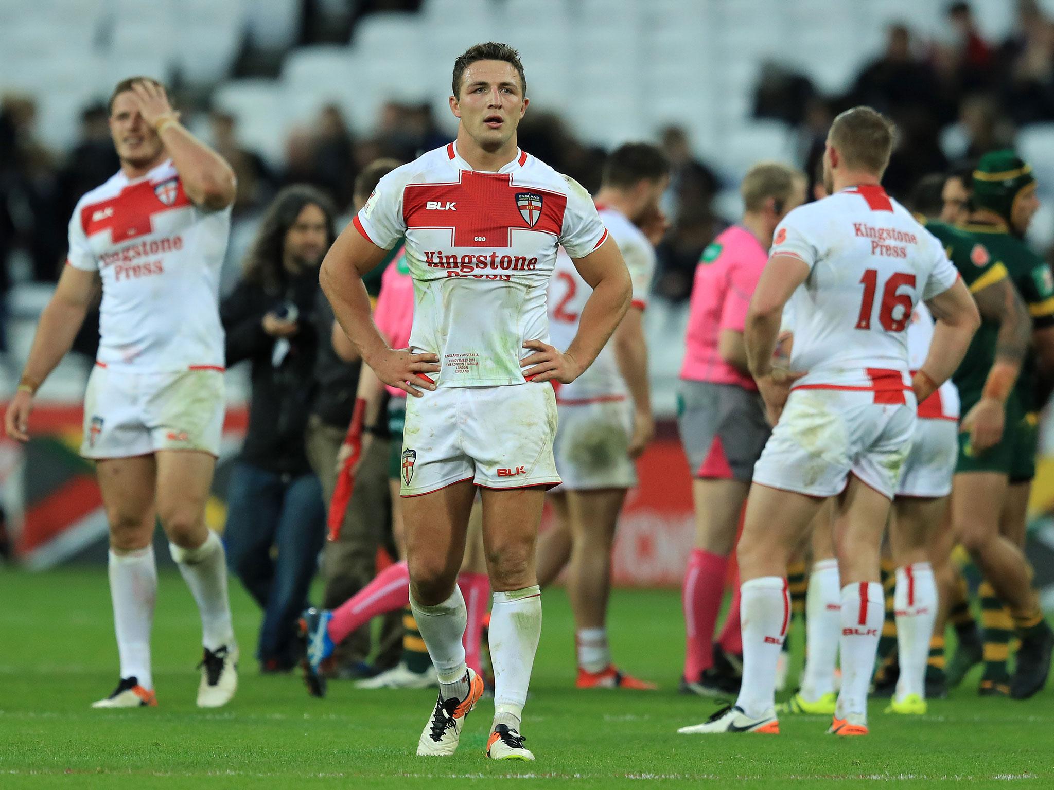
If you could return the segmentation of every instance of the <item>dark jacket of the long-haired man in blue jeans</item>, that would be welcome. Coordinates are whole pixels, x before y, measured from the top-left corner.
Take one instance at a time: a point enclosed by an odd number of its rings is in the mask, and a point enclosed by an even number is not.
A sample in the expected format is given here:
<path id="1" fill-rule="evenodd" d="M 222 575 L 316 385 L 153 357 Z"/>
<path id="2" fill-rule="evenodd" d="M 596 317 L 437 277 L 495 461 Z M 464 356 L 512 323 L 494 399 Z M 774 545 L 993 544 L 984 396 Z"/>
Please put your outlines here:
<path id="1" fill-rule="evenodd" d="M 252 364 L 249 430 L 241 459 L 276 474 L 299 475 L 311 471 L 304 433 L 315 389 L 317 293 L 318 272 L 311 269 L 288 277 L 274 293 L 242 280 L 219 307 L 227 332 L 227 367 L 243 359 Z M 279 341 L 264 331 L 261 321 L 267 313 L 287 303 L 296 305 L 300 329 L 289 338 L 288 352 L 276 363 Z"/>

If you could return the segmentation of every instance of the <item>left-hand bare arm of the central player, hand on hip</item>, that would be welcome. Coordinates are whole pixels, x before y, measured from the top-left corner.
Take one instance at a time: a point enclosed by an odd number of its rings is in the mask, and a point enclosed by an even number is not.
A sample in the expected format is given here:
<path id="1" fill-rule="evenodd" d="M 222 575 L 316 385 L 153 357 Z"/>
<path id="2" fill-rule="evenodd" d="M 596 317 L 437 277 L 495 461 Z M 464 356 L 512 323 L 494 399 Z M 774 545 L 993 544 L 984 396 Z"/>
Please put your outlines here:
<path id="1" fill-rule="evenodd" d="M 326 253 L 318 281 L 344 334 L 377 378 L 421 397 L 415 387 L 434 390 L 435 386 L 419 374 L 436 372 L 438 357 L 389 349 L 373 322 L 370 297 L 363 284 L 363 275 L 380 263 L 385 255 L 386 250 L 367 241 L 354 224 L 349 224 Z"/>

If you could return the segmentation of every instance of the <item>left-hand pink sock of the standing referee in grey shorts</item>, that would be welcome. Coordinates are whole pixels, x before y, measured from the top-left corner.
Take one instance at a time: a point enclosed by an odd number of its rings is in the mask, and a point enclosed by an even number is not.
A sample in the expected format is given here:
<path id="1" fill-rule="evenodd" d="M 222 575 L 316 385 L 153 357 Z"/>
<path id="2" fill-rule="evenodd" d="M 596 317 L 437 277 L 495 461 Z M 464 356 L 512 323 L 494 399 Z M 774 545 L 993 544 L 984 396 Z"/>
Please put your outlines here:
<path id="1" fill-rule="evenodd" d="M 681 601 L 684 605 L 684 676 L 698 680 L 714 666 L 714 626 L 721 612 L 728 557 L 692 549 L 684 573 Z"/>

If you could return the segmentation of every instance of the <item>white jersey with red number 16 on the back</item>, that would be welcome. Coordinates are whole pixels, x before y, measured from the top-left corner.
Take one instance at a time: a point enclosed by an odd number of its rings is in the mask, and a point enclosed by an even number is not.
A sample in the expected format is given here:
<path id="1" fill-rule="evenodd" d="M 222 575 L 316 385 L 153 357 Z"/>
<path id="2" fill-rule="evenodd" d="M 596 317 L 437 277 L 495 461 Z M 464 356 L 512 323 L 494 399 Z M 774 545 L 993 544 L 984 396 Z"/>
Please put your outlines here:
<path id="1" fill-rule="evenodd" d="M 920 299 L 958 277 L 940 242 L 881 186 L 852 186 L 792 211 L 769 258 L 809 274 L 790 297 L 796 389 L 911 389 L 906 327 Z M 893 402 L 892 400 L 890 402 Z"/>

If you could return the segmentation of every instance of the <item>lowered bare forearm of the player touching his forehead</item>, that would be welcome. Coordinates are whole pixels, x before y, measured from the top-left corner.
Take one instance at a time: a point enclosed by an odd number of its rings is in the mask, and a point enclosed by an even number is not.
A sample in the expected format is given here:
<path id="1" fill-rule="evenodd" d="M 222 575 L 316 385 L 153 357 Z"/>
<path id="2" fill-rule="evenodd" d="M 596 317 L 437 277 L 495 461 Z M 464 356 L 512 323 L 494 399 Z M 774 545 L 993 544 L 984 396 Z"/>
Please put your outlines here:
<path id="1" fill-rule="evenodd" d="M 63 266 L 55 293 L 40 314 L 40 323 L 37 324 L 37 334 L 23 371 L 25 378 L 39 387 L 55 370 L 73 347 L 74 338 L 100 288 L 98 273 Z"/>

